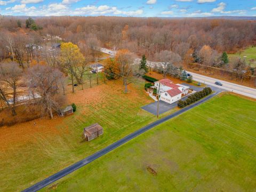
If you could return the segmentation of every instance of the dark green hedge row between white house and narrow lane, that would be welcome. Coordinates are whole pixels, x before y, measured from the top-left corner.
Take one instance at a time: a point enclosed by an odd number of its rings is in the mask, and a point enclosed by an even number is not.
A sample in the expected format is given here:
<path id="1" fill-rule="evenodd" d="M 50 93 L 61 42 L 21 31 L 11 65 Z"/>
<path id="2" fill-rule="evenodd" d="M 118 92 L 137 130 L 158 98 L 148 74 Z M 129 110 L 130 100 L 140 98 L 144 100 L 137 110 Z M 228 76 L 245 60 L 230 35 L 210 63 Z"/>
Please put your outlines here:
<path id="1" fill-rule="evenodd" d="M 190 105 L 191 103 L 194 103 L 211 93 L 212 93 L 212 89 L 210 87 L 205 87 L 202 91 L 199 91 L 199 92 L 194 93 L 193 95 L 190 95 L 185 101 L 179 100 L 178 107 L 179 108 L 186 107 L 186 106 Z"/>

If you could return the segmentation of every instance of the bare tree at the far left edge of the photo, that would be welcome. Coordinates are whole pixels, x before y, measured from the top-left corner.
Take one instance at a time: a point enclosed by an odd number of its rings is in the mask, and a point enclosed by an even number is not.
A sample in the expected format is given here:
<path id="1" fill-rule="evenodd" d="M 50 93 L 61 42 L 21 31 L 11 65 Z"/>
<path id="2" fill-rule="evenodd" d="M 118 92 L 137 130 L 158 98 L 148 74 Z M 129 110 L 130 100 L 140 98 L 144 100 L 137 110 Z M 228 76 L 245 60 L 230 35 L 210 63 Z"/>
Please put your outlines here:
<path id="1" fill-rule="evenodd" d="M 12 115 L 17 115 L 15 111 L 18 81 L 21 77 L 22 70 L 18 63 L 2 63 L 0 65 L 0 97 L 7 106 L 12 109 Z M 7 97 L 7 89 L 12 89 L 12 99 Z"/>

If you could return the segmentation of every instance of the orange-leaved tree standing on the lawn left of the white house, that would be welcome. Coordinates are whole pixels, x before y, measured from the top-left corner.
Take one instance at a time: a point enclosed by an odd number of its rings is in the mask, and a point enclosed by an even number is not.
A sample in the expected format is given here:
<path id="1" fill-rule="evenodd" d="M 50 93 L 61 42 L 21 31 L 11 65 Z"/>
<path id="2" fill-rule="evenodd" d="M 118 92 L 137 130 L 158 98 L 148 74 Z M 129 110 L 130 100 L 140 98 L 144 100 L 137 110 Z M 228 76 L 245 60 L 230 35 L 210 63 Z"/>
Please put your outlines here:
<path id="1" fill-rule="evenodd" d="M 119 50 L 116 53 L 115 61 L 119 68 L 119 75 L 123 78 L 124 92 L 127 93 L 128 78 L 132 75 L 134 55 L 128 50 Z"/>

